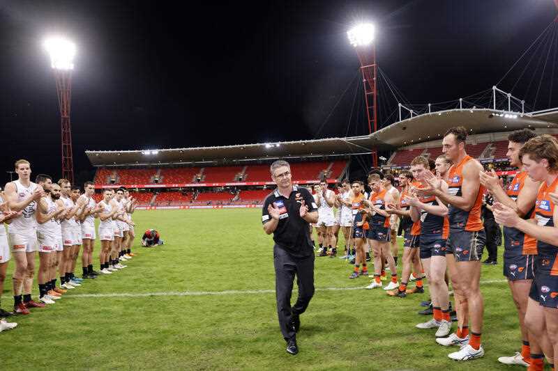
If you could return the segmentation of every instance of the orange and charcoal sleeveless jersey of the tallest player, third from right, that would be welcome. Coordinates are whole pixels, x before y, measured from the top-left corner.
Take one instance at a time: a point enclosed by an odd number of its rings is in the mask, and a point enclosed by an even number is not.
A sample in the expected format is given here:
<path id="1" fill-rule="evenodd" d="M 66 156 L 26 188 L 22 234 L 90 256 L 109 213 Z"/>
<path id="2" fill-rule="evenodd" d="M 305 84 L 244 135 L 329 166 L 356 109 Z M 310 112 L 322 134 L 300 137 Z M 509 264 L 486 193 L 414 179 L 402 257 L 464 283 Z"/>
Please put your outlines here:
<path id="1" fill-rule="evenodd" d="M 463 185 L 463 166 L 469 161 L 474 161 L 471 156 L 465 156 L 459 164 L 451 166 L 448 173 L 448 194 L 453 196 L 462 196 L 461 187 Z M 481 220 L 481 207 L 483 201 L 484 187 L 481 185 L 478 189 L 478 194 L 474 205 L 468 212 L 448 205 L 448 220 L 450 232 L 460 232 L 467 230 L 467 232 L 476 232 L 483 230 L 483 221 Z"/>

